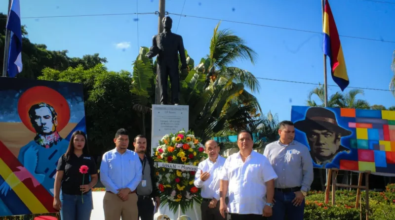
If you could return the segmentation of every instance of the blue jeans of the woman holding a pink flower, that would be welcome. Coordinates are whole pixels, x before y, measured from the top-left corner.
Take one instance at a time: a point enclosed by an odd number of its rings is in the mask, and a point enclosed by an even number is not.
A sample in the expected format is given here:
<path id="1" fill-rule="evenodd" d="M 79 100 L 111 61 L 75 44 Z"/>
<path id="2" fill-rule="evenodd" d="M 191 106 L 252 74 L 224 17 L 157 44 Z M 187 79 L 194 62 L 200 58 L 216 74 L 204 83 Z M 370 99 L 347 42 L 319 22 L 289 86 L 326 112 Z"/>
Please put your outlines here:
<path id="1" fill-rule="evenodd" d="M 81 195 L 69 195 L 60 193 L 61 220 L 89 220 L 93 209 L 92 191 L 84 194 L 83 203 Z"/>

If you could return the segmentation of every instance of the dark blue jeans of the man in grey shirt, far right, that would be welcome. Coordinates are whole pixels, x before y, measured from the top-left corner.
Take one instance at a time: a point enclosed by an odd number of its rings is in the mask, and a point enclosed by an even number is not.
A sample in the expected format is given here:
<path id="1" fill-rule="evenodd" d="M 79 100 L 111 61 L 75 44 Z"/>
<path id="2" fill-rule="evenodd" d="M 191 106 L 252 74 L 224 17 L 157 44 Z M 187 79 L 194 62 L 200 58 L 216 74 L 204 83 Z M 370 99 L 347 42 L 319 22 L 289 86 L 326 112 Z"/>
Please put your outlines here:
<path id="1" fill-rule="evenodd" d="M 300 206 L 294 206 L 292 200 L 295 198 L 294 192 L 281 192 L 275 190 L 276 203 L 273 206 L 273 216 L 269 220 L 303 220 L 305 212 L 305 200 Z"/>

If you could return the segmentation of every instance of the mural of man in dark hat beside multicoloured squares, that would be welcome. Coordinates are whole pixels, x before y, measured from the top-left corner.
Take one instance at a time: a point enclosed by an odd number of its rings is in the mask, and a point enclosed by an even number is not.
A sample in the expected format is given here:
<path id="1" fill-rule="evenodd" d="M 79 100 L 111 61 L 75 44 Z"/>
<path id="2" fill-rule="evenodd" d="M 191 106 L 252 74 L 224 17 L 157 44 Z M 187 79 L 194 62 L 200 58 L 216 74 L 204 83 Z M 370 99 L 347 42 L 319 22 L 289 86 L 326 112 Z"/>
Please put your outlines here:
<path id="1" fill-rule="evenodd" d="M 315 168 L 395 174 L 395 111 L 292 106 Z"/>

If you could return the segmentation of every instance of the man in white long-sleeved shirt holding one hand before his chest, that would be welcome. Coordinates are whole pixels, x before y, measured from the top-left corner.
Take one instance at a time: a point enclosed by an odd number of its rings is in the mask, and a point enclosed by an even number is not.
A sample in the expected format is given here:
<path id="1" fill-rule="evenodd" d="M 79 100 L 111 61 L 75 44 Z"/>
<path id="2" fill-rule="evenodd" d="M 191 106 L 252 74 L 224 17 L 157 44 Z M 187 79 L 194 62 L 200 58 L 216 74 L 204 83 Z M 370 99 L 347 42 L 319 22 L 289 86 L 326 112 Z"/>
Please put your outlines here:
<path id="1" fill-rule="evenodd" d="M 195 175 L 195 186 L 201 188 L 203 201 L 200 205 L 201 220 L 225 220 L 219 212 L 219 175 L 225 158 L 219 156 L 219 146 L 214 140 L 205 144 L 208 158 L 199 163 Z"/>

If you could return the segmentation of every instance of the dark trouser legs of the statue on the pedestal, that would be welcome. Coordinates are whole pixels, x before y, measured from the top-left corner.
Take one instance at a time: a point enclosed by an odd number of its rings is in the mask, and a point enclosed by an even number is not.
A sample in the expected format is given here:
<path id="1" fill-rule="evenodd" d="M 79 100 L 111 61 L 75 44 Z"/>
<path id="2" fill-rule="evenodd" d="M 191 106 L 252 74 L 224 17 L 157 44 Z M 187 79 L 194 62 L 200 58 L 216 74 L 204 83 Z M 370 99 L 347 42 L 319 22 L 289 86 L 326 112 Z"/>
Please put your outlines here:
<path id="1" fill-rule="evenodd" d="M 180 81 L 178 74 L 178 63 L 177 65 L 158 65 L 158 85 L 160 94 L 160 103 L 167 104 L 167 78 L 170 78 L 171 84 L 171 101 L 173 104 L 179 102 L 179 92 L 180 92 Z"/>

